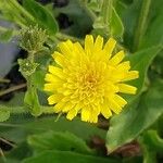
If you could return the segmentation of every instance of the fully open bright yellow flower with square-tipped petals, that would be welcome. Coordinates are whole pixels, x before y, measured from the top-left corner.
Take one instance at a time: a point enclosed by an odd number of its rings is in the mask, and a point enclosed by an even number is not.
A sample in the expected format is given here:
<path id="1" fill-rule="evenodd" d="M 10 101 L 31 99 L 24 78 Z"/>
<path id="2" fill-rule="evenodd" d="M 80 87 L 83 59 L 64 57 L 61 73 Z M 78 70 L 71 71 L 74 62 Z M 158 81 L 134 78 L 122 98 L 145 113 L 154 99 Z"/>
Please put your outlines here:
<path id="1" fill-rule="evenodd" d="M 124 84 L 138 78 L 137 71 L 129 71 L 129 61 L 122 62 L 125 54 L 112 54 L 116 41 L 110 38 L 103 45 L 98 36 L 93 41 L 86 36 L 85 48 L 71 40 L 59 45 L 60 52 L 52 54 L 55 65 L 49 65 L 45 90 L 52 95 L 49 104 L 55 113 L 67 113 L 73 120 L 80 113 L 82 121 L 97 123 L 102 114 L 105 118 L 118 114 L 127 103 L 120 93 L 136 93 L 137 88 Z"/>

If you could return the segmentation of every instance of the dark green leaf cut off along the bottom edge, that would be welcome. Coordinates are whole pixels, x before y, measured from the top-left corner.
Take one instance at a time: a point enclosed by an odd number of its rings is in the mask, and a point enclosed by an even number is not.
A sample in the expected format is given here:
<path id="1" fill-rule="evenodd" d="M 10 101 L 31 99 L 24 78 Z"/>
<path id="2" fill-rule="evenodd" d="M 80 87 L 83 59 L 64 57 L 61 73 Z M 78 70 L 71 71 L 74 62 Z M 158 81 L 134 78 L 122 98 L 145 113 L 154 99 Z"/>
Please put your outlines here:
<path id="1" fill-rule="evenodd" d="M 68 151 L 46 151 L 23 161 L 23 163 L 117 163 L 121 162 L 118 159 L 99 158 L 91 155 L 84 155 Z"/>

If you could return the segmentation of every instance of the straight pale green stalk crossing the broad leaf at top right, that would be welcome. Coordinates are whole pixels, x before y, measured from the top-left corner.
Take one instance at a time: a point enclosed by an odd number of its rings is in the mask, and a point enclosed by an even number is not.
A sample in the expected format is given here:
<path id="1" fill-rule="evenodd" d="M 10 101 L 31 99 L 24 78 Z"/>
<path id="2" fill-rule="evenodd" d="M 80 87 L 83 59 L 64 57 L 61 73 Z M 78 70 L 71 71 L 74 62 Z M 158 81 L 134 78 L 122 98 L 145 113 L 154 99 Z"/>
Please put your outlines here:
<path id="1" fill-rule="evenodd" d="M 140 14 L 139 14 L 139 18 L 138 18 L 138 25 L 135 28 L 133 51 L 138 50 L 139 43 L 145 34 L 150 5 L 151 5 L 151 0 L 142 1 Z"/>

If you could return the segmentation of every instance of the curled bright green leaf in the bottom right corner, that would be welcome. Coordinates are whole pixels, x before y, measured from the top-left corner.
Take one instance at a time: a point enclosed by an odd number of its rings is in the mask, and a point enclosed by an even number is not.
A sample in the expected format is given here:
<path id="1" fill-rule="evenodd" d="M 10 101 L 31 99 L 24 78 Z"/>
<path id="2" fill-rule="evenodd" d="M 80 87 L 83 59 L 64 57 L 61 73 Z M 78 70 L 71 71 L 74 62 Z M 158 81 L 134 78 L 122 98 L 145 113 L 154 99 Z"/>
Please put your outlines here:
<path id="1" fill-rule="evenodd" d="M 156 154 L 163 151 L 163 139 L 156 130 L 147 130 L 139 138 L 143 151 L 143 163 L 156 163 Z"/>

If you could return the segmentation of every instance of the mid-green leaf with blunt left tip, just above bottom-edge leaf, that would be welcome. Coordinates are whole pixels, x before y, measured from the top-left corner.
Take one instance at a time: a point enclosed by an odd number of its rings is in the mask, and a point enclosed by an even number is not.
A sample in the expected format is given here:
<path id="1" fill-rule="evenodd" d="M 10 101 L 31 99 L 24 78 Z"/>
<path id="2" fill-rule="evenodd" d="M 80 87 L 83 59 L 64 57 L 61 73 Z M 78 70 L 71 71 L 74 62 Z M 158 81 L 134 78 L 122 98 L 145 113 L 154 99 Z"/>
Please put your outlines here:
<path id="1" fill-rule="evenodd" d="M 48 131 L 41 135 L 29 136 L 27 140 L 37 153 L 43 150 L 74 151 L 85 154 L 92 153 L 83 139 L 68 131 Z"/>

